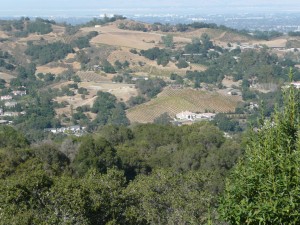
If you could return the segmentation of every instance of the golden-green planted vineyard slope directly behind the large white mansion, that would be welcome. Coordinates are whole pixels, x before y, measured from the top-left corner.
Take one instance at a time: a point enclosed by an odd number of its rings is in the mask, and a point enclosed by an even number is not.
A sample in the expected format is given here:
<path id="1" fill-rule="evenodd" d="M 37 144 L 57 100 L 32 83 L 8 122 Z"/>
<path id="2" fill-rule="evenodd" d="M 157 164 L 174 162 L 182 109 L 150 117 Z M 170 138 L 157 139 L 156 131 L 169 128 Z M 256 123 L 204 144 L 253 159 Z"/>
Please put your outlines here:
<path id="1" fill-rule="evenodd" d="M 182 111 L 233 112 L 239 101 L 241 98 L 238 96 L 224 96 L 194 89 L 167 88 L 150 102 L 129 109 L 127 117 L 131 122 L 149 123 L 165 112 L 171 117 Z"/>

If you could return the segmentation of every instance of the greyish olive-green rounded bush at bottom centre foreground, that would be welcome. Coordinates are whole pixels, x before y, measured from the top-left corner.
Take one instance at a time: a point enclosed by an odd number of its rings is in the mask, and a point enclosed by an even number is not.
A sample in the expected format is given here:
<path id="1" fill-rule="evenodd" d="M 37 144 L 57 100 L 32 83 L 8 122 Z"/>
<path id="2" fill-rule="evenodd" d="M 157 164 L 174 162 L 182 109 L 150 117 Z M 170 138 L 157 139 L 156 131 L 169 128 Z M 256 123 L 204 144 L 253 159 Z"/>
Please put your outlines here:
<path id="1" fill-rule="evenodd" d="M 156 170 L 139 176 L 128 191 L 136 199 L 133 216 L 143 224 L 205 224 L 212 196 L 205 190 L 207 175 Z"/>

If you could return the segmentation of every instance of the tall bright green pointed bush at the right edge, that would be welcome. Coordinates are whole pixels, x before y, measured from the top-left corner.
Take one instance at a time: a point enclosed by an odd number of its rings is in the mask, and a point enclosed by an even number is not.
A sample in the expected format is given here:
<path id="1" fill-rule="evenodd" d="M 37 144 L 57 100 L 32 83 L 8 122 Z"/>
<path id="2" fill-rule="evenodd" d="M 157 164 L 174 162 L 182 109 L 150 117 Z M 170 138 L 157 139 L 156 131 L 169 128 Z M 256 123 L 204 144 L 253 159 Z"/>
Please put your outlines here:
<path id="1" fill-rule="evenodd" d="M 226 184 L 220 212 L 230 224 L 299 224 L 299 91 L 263 119 Z"/>

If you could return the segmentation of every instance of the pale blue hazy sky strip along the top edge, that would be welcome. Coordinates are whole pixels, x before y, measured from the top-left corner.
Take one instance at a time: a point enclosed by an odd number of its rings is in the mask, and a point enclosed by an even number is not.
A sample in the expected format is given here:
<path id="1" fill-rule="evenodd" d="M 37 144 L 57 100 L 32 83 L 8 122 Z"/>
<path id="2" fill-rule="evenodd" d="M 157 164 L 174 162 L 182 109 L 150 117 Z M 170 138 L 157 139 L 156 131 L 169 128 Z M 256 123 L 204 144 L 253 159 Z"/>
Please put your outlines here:
<path id="1" fill-rule="evenodd" d="M 299 11 L 300 0 L 1 0 L 0 13 L 2 15 L 35 14 L 43 16 L 44 13 L 76 12 L 83 15 L 89 12 L 105 8 L 129 8 L 132 12 L 138 8 L 157 8 L 157 10 L 169 7 L 177 10 L 193 8 L 201 11 L 220 12 L 280 12 Z M 156 9 L 151 11 L 155 13 Z M 137 10 L 138 11 L 138 10 Z M 116 12 L 117 13 L 117 12 Z M 169 13 L 166 11 L 166 13 Z"/>

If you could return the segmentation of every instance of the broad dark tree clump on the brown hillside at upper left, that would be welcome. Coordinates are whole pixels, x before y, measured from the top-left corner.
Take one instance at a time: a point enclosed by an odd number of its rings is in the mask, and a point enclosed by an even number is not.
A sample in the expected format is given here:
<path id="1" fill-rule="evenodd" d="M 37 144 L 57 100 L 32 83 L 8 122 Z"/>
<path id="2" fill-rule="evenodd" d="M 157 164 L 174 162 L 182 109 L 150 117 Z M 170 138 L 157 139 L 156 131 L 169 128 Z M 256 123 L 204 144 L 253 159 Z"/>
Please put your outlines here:
<path id="1" fill-rule="evenodd" d="M 52 61 L 63 59 L 68 53 L 73 52 L 71 45 L 62 42 L 54 42 L 46 45 L 30 44 L 25 51 L 32 60 L 39 64 L 46 64 Z"/>

